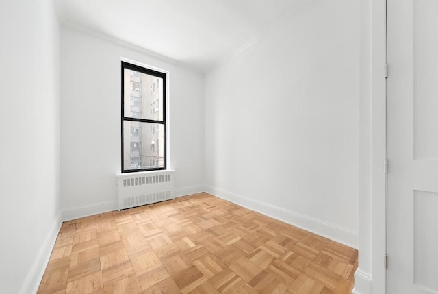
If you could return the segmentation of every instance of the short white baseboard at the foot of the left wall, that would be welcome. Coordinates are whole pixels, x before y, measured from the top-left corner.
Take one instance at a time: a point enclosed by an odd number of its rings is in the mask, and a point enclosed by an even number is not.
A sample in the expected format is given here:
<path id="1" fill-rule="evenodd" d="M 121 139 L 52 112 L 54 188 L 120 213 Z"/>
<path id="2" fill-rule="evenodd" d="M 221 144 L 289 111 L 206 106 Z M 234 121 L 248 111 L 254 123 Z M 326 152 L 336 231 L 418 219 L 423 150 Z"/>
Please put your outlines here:
<path id="1" fill-rule="evenodd" d="M 58 215 L 53 221 L 53 225 L 49 232 L 47 232 L 47 235 L 40 246 L 40 250 L 35 256 L 34 263 L 27 272 L 25 281 L 23 282 L 23 285 L 21 285 L 21 289 L 18 294 L 36 293 L 38 291 L 38 287 L 40 286 L 40 282 L 42 280 L 42 275 L 44 275 L 47 263 L 49 263 L 50 255 L 52 253 L 53 246 L 55 245 L 57 234 L 60 232 L 61 225 L 61 216 Z"/>

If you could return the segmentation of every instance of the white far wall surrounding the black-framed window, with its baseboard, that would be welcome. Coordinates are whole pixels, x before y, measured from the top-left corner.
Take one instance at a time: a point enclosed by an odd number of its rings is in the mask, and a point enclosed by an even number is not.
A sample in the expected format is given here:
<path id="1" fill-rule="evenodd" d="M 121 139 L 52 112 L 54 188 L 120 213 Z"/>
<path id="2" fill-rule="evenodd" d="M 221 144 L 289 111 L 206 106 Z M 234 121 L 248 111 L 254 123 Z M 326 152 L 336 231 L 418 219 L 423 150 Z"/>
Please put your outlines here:
<path id="1" fill-rule="evenodd" d="M 120 58 L 170 72 L 169 168 L 177 195 L 203 191 L 203 75 L 63 27 L 61 196 L 64 219 L 117 208 Z"/>

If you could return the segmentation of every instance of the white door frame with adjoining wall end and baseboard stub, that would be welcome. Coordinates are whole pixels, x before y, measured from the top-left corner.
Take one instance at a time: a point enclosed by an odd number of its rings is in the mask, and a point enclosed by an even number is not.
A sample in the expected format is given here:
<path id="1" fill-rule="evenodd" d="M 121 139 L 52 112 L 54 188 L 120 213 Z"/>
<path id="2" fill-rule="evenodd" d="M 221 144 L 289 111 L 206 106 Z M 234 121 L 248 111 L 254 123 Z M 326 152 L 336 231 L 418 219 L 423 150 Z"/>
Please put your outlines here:
<path id="1" fill-rule="evenodd" d="M 387 293 L 387 1 L 360 4 L 359 267 L 353 293 L 382 294 Z"/>

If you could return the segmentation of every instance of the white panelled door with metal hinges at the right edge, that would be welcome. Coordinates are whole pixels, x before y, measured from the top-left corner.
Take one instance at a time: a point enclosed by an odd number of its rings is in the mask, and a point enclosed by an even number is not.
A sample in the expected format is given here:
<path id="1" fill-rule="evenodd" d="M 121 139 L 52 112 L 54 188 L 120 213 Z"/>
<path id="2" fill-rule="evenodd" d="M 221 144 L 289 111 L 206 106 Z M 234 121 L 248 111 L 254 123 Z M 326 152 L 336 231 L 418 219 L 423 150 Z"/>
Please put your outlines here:
<path id="1" fill-rule="evenodd" d="M 388 293 L 438 293 L 438 0 L 387 0 Z"/>

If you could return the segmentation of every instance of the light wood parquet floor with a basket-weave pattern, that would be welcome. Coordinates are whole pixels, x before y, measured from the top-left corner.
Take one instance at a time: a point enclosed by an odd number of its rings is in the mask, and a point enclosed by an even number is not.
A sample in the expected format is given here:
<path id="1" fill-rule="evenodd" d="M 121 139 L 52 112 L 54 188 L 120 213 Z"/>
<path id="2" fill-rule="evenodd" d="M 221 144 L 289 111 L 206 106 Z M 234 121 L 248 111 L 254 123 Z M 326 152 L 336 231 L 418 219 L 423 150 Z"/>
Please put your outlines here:
<path id="1" fill-rule="evenodd" d="M 351 293 L 357 250 L 206 193 L 64 222 L 38 293 Z"/>

